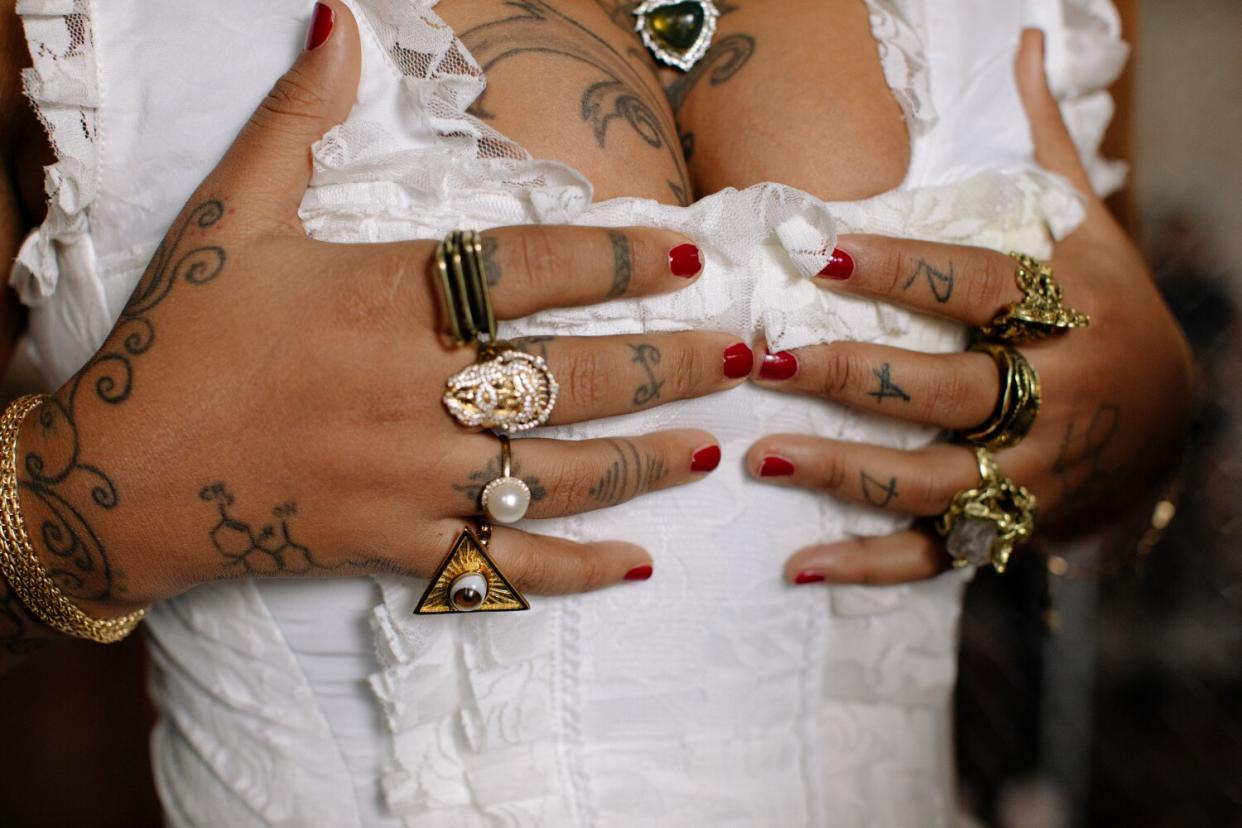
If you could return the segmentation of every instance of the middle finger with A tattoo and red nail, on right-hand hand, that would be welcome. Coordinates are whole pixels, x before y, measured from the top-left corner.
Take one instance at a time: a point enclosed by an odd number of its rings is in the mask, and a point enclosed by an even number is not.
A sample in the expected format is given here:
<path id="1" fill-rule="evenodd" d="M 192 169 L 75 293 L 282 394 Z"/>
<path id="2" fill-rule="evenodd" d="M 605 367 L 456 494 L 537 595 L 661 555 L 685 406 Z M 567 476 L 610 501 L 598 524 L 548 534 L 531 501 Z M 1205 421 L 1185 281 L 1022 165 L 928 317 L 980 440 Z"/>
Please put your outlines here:
<path id="1" fill-rule="evenodd" d="M 759 362 L 754 380 L 765 387 L 940 428 L 974 428 L 991 416 L 1000 395 L 996 364 L 986 354 L 840 341 L 765 351 Z"/>

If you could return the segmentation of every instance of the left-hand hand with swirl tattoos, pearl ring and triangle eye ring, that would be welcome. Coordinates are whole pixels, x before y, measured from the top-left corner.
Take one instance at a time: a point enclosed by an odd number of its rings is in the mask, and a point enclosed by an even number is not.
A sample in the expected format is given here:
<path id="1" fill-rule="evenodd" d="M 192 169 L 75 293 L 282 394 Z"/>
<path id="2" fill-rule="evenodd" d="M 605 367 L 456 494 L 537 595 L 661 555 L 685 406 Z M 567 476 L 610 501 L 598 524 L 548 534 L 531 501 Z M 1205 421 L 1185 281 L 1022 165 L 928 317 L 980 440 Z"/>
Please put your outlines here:
<path id="1" fill-rule="evenodd" d="M 497 438 L 441 403 L 474 354 L 441 344 L 436 243 L 332 245 L 298 221 L 309 146 L 348 114 L 359 77 L 356 25 L 330 6 L 330 36 L 276 84 L 98 353 L 20 432 L 27 531 L 88 613 L 230 577 L 430 576 L 499 475 Z M 689 241 L 666 231 L 504 227 L 484 238 L 501 319 L 676 290 L 702 271 Z M 722 333 L 522 345 L 559 379 L 550 425 L 712 394 L 750 369 L 745 345 Z M 693 482 L 718 459 L 700 431 L 513 441 L 532 518 Z M 630 544 L 508 528 L 491 554 L 544 593 L 645 577 L 651 564 Z"/>

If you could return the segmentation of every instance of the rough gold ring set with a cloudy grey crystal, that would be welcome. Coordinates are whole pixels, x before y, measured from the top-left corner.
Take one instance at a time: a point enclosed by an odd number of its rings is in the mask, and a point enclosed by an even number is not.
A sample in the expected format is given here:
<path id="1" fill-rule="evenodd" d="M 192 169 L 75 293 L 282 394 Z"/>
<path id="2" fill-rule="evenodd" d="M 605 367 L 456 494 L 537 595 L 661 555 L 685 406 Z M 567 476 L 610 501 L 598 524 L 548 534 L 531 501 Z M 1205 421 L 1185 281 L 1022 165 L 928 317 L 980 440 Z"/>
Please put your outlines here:
<path id="1" fill-rule="evenodd" d="M 948 539 L 955 567 L 991 564 L 1004 572 L 1013 547 L 1035 531 L 1035 495 L 1005 477 L 982 446 L 975 447 L 975 461 L 979 485 L 953 495 L 935 528 Z"/>

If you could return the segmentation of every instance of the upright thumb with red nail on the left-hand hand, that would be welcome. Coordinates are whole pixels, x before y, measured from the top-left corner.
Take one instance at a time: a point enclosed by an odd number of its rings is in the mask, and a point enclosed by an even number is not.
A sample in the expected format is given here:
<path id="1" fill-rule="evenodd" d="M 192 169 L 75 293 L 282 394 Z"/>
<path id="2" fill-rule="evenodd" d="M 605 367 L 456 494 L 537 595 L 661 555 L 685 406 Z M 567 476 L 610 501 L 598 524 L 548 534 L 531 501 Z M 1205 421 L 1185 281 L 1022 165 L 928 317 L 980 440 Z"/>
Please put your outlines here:
<path id="1" fill-rule="evenodd" d="M 340 0 L 322 0 L 307 21 L 306 48 L 246 122 L 204 182 L 276 227 L 294 228 L 310 181 L 310 146 L 349 114 L 358 97 L 358 24 Z"/>

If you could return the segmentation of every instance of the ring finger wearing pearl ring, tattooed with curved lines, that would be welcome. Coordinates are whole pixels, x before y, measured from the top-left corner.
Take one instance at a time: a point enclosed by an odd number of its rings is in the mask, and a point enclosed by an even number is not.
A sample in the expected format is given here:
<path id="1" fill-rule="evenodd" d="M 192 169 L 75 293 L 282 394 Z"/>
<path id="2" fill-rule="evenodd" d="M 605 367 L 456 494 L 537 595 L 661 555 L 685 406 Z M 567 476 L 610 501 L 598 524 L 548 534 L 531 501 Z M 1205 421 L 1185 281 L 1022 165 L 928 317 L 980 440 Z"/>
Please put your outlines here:
<path id="1" fill-rule="evenodd" d="M 703 479 L 720 463 L 720 446 L 705 431 L 663 431 L 602 439 L 513 439 L 510 474 L 527 484 L 527 518 L 560 518 L 606 509 L 651 492 Z M 483 487 L 501 477 L 494 437 L 471 437 L 452 472 L 461 516 L 479 513 Z"/>

